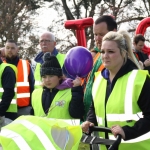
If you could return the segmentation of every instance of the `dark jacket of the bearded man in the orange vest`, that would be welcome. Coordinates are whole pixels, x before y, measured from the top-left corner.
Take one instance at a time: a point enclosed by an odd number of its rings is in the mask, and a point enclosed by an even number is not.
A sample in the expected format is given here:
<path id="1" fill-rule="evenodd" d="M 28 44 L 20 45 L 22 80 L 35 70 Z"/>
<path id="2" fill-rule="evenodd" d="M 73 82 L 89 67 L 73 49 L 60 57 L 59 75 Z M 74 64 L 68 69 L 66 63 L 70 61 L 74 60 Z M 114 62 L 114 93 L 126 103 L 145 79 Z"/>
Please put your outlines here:
<path id="1" fill-rule="evenodd" d="M 6 58 L 6 62 L 9 63 L 9 64 L 13 64 L 17 67 L 18 65 L 18 62 L 19 62 L 19 57 L 15 57 L 13 59 L 8 59 Z M 30 73 L 29 73 L 29 76 L 28 76 L 28 80 L 29 80 L 29 85 L 30 85 L 30 95 L 32 94 L 33 90 L 34 90 L 34 75 L 33 75 L 33 71 L 31 69 L 31 66 L 30 66 Z"/>

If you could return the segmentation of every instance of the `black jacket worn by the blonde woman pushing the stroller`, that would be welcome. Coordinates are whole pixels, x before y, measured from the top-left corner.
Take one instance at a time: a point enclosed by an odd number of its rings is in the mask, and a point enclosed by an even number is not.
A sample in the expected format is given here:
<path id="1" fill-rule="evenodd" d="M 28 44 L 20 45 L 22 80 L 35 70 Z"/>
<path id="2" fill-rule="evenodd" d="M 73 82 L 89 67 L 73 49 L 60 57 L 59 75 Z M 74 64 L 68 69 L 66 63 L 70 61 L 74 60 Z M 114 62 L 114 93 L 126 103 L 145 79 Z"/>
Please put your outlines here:
<path id="1" fill-rule="evenodd" d="M 109 95 L 111 94 L 111 91 L 113 90 L 113 87 L 116 81 L 123 75 L 132 71 L 133 69 L 136 69 L 136 66 L 131 60 L 127 60 L 127 63 L 124 66 L 122 66 L 122 68 L 118 71 L 112 83 L 110 83 L 108 80 L 106 69 L 102 71 L 102 76 L 107 79 L 106 103 L 107 103 Z M 137 101 L 141 111 L 143 112 L 144 118 L 140 118 L 133 127 L 123 126 L 123 130 L 125 132 L 125 140 L 136 138 L 150 131 L 150 92 L 149 92 L 149 89 L 150 89 L 150 78 L 147 76 L 143 89 L 141 91 L 141 94 Z M 87 120 L 97 125 L 93 103 L 88 112 Z M 106 123 L 106 126 L 107 126 L 107 123 Z"/>

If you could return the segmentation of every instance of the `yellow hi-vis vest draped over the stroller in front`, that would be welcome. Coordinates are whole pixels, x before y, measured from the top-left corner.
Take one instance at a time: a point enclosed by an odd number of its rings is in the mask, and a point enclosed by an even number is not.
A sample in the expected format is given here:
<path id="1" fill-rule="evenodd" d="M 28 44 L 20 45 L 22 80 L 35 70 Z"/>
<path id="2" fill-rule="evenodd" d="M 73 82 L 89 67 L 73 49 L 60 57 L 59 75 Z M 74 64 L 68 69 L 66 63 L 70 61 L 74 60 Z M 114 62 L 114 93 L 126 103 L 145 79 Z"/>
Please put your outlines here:
<path id="1" fill-rule="evenodd" d="M 62 120 L 21 116 L 0 132 L 4 150 L 77 150 L 82 137 L 81 126 Z"/>

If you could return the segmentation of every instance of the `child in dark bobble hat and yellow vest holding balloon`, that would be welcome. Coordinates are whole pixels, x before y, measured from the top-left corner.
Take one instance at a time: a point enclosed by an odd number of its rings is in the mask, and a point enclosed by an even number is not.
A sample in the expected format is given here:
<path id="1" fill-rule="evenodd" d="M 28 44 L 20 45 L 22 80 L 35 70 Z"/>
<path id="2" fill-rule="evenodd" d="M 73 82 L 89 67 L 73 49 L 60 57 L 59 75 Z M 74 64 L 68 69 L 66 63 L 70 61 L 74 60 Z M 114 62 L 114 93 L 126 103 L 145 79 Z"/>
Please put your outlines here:
<path id="1" fill-rule="evenodd" d="M 83 120 L 83 89 L 80 78 L 63 79 L 61 66 L 56 56 L 44 54 L 41 65 L 41 88 L 32 93 L 31 115 L 58 119 Z"/>

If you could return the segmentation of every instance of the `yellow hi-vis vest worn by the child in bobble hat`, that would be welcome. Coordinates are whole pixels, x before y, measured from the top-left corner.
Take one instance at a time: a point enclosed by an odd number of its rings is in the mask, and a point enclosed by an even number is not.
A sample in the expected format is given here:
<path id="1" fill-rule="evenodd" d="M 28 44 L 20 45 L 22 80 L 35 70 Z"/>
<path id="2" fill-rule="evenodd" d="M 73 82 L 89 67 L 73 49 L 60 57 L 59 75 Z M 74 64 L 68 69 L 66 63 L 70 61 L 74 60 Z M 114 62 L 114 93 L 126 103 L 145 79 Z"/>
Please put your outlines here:
<path id="1" fill-rule="evenodd" d="M 35 89 L 32 93 L 32 107 L 35 116 L 46 116 L 42 107 L 43 89 Z M 59 90 L 52 100 L 48 118 L 71 119 L 69 114 L 69 103 L 71 101 L 71 89 Z"/>

